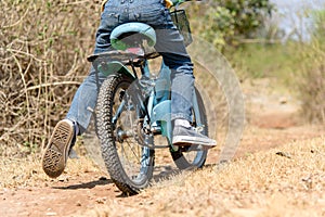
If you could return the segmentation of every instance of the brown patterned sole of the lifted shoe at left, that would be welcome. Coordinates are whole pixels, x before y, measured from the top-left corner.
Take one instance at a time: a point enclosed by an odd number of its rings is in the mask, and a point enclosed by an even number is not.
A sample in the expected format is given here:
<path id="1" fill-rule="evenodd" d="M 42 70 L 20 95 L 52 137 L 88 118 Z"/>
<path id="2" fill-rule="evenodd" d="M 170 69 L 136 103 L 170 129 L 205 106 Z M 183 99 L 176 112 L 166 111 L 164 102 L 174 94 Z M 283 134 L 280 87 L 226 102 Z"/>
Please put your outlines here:
<path id="1" fill-rule="evenodd" d="M 57 123 L 42 156 L 42 168 L 49 177 L 56 178 L 63 173 L 73 136 L 73 125 Z"/>

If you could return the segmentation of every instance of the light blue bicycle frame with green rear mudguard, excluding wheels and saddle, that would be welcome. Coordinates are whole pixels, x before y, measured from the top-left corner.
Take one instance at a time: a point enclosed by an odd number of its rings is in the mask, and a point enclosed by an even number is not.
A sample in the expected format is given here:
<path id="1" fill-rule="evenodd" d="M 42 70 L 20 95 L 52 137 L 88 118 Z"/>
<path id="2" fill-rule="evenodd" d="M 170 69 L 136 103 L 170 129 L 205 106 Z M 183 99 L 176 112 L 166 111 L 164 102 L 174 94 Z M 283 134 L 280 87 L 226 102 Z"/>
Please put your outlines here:
<path id="1" fill-rule="evenodd" d="M 127 65 L 133 66 L 131 62 L 122 62 L 122 61 L 109 61 L 112 55 L 116 55 L 116 52 L 113 51 L 112 53 L 103 53 L 105 58 L 102 59 L 101 61 L 98 61 L 99 64 L 94 64 L 96 68 L 96 73 L 102 73 L 105 76 L 114 76 L 114 75 L 123 75 L 130 77 L 132 80 L 136 80 L 136 72 L 135 71 L 130 71 Z M 101 59 L 101 54 L 96 56 L 98 59 Z M 120 56 L 121 59 L 121 56 Z M 151 77 L 151 72 L 147 66 L 147 61 L 143 60 L 145 64 L 141 65 L 141 72 L 142 72 L 142 77 L 150 78 Z M 155 78 L 151 78 L 151 87 L 146 88 L 152 88 L 150 91 L 150 98 L 145 106 L 145 111 L 147 111 L 148 119 L 150 119 L 150 125 L 151 125 L 151 130 L 161 133 L 161 136 L 166 137 L 168 139 L 169 146 L 171 148 L 172 151 L 178 151 L 178 146 L 172 145 L 172 126 L 171 126 L 171 100 L 170 100 L 170 74 L 171 71 L 169 69 L 168 66 L 161 63 L 160 71 L 159 71 L 159 76 Z M 141 79 L 141 78 L 140 78 Z M 115 119 L 118 118 L 119 114 L 122 112 L 122 106 L 125 104 L 121 103 L 120 107 L 118 108 L 118 112 L 116 114 L 116 117 L 112 120 L 113 123 Z M 193 110 L 196 114 L 199 114 L 199 108 L 198 108 L 198 102 L 196 98 L 196 93 L 194 91 L 193 93 Z M 199 119 L 199 116 L 196 117 L 197 123 L 202 123 Z M 197 126 L 202 127 L 202 126 Z"/>

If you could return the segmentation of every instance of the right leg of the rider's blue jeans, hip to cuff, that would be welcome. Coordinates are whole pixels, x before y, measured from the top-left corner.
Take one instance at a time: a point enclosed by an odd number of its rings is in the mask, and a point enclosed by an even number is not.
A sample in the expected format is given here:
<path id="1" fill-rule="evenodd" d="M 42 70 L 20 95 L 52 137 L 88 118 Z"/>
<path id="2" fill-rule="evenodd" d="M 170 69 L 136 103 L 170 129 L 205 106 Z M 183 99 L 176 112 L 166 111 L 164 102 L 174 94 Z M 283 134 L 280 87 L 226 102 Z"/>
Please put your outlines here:
<path id="1" fill-rule="evenodd" d="M 134 21 L 146 23 L 156 30 L 155 49 L 171 69 L 171 118 L 191 120 L 194 91 L 193 63 L 186 52 L 183 37 L 171 21 L 164 0 L 134 1 L 130 10 Z"/>

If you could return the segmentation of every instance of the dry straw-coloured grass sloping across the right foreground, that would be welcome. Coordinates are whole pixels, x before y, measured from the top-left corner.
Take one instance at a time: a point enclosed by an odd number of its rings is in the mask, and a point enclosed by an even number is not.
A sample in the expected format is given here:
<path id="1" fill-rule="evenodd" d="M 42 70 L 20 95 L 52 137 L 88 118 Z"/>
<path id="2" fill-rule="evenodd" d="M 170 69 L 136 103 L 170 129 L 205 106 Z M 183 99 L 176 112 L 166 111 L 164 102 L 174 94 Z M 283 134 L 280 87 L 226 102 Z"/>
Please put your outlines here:
<path id="1" fill-rule="evenodd" d="M 324 216 L 325 140 L 295 142 L 110 199 L 98 216 Z"/>

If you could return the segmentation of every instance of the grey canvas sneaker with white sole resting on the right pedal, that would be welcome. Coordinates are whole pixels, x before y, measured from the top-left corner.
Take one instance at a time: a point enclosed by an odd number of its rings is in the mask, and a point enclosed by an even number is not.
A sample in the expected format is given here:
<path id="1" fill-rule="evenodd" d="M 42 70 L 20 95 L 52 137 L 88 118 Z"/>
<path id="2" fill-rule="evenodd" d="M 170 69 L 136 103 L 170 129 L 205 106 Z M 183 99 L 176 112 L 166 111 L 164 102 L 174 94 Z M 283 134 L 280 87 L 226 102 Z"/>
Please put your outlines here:
<path id="1" fill-rule="evenodd" d="M 188 123 L 187 125 L 174 125 L 172 144 L 178 146 L 196 144 L 213 148 L 217 145 L 217 141 L 197 132 Z"/>

